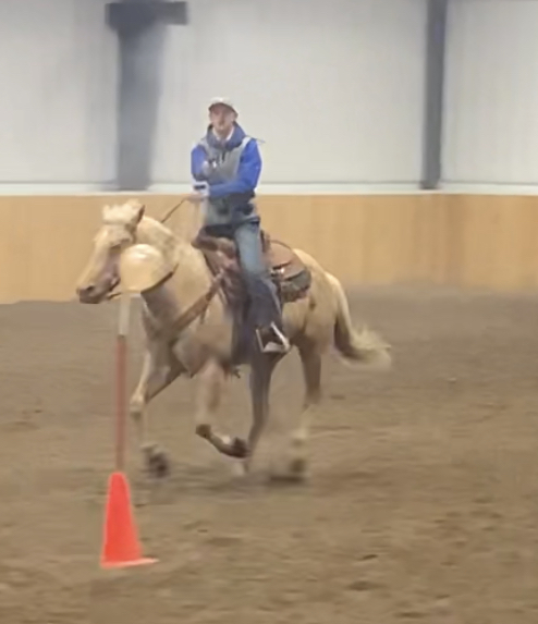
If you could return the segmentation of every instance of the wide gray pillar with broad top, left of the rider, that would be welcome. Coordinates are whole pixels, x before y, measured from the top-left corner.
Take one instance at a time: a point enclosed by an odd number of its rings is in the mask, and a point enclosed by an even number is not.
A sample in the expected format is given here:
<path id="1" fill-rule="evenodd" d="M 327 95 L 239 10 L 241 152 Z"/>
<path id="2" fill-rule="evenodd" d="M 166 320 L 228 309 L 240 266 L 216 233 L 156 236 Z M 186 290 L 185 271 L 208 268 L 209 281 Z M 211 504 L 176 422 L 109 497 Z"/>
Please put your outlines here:
<path id="1" fill-rule="evenodd" d="M 186 24 L 186 2 L 123 0 L 107 4 L 119 38 L 117 188 L 144 191 L 151 163 L 167 24 Z"/>

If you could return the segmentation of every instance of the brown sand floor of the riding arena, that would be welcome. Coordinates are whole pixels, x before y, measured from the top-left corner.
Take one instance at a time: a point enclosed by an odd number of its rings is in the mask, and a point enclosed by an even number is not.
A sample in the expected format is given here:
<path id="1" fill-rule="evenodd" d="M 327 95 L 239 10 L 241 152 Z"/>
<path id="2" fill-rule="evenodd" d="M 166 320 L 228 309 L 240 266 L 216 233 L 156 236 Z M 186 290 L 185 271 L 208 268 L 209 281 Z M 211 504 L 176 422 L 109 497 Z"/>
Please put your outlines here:
<path id="1" fill-rule="evenodd" d="M 170 478 L 151 486 L 129 452 L 160 563 L 107 573 L 115 308 L 0 307 L 0 623 L 536 624 L 538 298 L 401 289 L 352 305 L 394 370 L 328 359 L 308 482 L 264 478 L 301 403 L 295 355 L 252 482 L 195 437 L 179 381 L 150 408 Z M 136 319 L 131 383 L 138 337 Z M 223 429 L 244 432 L 246 399 L 232 381 Z"/>

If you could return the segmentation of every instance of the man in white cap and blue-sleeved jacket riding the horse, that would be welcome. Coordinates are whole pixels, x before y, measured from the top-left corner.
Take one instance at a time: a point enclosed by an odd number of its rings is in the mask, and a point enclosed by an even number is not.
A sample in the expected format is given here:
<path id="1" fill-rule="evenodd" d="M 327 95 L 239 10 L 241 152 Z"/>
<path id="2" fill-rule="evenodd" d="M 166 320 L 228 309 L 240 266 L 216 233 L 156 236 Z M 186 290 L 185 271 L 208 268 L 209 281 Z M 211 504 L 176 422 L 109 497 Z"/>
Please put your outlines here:
<path id="1" fill-rule="evenodd" d="M 237 111 L 227 99 L 209 105 L 206 135 L 191 152 L 191 173 L 196 181 L 191 198 L 204 201 L 203 231 L 235 242 L 250 295 L 252 329 L 264 353 L 286 353 L 282 310 L 277 289 L 264 261 L 260 218 L 254 203 L 261 172 L 256 139 L 237 123 Z"/>

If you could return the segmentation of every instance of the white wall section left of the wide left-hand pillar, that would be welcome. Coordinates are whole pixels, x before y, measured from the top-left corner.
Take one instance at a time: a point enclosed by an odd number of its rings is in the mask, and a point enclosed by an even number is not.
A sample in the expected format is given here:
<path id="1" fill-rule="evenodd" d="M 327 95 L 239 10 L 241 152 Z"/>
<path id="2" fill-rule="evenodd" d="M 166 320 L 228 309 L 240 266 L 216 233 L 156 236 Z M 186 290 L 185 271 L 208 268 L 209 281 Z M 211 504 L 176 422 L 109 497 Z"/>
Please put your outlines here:
<path id="1" fill-rule="evenodd" d="M 0 1 L 0 183 L 113 178 L 117 37 L 105 3 Z"/>

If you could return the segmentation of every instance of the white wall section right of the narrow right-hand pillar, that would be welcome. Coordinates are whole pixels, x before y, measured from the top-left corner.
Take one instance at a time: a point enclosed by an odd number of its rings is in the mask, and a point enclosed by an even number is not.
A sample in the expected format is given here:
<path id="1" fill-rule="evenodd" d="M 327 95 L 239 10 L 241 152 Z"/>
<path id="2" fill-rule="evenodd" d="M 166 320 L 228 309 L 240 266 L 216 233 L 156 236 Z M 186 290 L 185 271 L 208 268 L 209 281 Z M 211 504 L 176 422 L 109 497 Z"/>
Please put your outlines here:
<path id="1" fill-rule="evenodd" d="M 538 1 L 451 0 L 443 179 L 538 183 Z"/>

